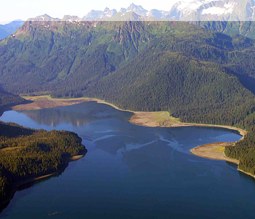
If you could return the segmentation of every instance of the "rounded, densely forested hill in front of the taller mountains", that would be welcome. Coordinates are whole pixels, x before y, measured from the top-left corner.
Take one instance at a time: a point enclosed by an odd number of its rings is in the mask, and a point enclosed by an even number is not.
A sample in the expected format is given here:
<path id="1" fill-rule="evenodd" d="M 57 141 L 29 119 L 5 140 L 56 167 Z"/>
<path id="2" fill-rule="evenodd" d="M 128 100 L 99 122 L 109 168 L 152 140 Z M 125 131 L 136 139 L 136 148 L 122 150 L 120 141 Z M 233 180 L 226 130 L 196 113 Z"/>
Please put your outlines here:
<path id="1" fill-rule="evenodd" d="M 184 121 L 216 124 L 240 123 L 255 106 L 253 95 L 223 68 L 171 52 L 145 51 L 85 94 L 123 108 L 167 110 Z"/>

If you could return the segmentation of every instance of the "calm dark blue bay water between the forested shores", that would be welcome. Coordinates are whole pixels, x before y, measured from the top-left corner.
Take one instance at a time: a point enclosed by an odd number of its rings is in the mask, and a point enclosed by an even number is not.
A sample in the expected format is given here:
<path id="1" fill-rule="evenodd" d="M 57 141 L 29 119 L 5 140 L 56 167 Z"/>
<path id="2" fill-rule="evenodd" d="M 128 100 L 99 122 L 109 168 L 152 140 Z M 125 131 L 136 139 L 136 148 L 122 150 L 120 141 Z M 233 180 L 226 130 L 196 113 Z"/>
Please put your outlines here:
<path id="1" fill-rule="evenodd" d="M 254 218 L 255 181 L 197 145 L 236 141 L 216 128 L 146 128 L 94 102 L 8 111 L 2 121 L 79 134 L 87 155 L 57 177 L 16 192 L 0 218 Z"/>

